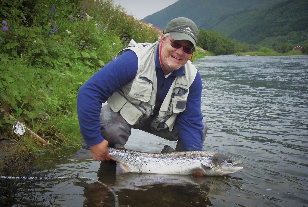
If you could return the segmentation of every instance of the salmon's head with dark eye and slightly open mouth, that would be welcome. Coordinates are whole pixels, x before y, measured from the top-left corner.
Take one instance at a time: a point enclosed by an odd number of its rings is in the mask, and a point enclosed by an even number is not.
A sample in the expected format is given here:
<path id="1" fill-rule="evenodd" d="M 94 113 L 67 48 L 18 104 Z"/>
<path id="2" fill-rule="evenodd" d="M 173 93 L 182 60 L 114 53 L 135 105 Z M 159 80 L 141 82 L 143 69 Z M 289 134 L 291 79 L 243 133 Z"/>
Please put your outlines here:
<path id="1" fill-rule="evenodd" d="M 212 157 L 210 164 L 218 175 L 227 175 L 243 169 L 243 167 L 237 166 L 243 164 L 242 161 L 221 153 L 215 154 Z"/>

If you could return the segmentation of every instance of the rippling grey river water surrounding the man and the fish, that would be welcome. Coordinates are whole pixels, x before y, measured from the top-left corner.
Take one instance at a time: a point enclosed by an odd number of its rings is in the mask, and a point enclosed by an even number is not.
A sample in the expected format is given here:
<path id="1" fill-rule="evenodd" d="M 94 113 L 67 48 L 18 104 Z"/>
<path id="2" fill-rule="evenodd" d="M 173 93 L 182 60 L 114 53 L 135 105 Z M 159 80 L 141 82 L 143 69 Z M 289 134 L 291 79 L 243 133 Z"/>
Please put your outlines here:
<path id="1" fill-rule="evenodd" d="M 222 177 L 128 173 L 115 164 L 73 160 L 77 149 L 45 155 L 59 176 L 44 181 L 51 206 L 308 206 L 308 56 L 209 56 L 193 63 L 201 74 L 202 114 L 209 125 L 203 150 L 243 161 L 244 168 Z M 133 130 L 126 148 L 160 152 L 163 140 Z M 39 191 L 39 190 L 38 190 Z M 46 205 L 46 203 L 45 203 Z"/>

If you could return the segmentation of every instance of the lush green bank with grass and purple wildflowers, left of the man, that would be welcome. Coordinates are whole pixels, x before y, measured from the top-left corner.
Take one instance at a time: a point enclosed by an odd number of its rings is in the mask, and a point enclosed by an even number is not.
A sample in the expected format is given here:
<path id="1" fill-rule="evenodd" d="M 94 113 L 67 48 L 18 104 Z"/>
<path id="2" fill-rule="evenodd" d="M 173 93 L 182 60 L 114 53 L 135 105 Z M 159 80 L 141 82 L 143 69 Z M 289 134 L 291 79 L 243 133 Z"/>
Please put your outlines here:
<path id="1" fill-rule="evenodd" d="M 124 38 L 155 42 L 162 33 L 112 0 L 2 0 L 3 20 L 0 136 L 16 138 L 10 114 L 51 143 L 79 141 L 79 87 L 126 46 Z"/>

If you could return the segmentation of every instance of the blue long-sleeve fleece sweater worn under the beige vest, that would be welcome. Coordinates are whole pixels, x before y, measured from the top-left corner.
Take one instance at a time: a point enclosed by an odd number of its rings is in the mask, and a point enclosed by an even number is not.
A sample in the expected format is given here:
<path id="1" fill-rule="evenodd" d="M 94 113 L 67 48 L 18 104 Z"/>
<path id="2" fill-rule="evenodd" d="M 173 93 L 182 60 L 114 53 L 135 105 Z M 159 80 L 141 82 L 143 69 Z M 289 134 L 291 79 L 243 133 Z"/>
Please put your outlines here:
<path id="1" fill-rule="evenodd" d="M 162 103 L 172 82 L 177 75 L 184 75 L 184 67 L 174 71 L 168 78 L 164 77 L 156 54 L 155 66 L 157 75 L 156 102 Z M 81 133 L 88 146 L 103 141 L 100 131 L 99 113 L 101 104 L 137 74 L 138 58 L 133 51 L 126 51 L 120 57 L 106 64 L 80 87 L 77 98 L 77 112 Z M 188 100 L 184 112 L 178 114 L 176 122 L 184 150 L 201 150 L 202 114 L 201 114 L 201 76 L 197 76 L 189 87 Z"/>

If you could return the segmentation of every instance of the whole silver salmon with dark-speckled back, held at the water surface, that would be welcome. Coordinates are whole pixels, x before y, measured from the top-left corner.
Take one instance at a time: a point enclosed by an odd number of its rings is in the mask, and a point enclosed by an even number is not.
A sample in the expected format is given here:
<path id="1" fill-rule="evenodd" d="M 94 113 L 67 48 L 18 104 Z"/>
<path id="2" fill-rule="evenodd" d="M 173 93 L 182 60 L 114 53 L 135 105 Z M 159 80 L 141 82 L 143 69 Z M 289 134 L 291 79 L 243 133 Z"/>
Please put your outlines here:
<path id="1" fill-rule="evenodd" d="M 117 173 L 156 173 L 188 175 L 200 171 L 205 176 L 223 176 L 235 173 L 243 167 L 240 160 L 209 151 L 174 151 L 151 153 L 125 148 L 108 148 L 111 160 L 118 163 Z M 75 160 L 92 159 L 91 150 L 81 148 Z"/>

